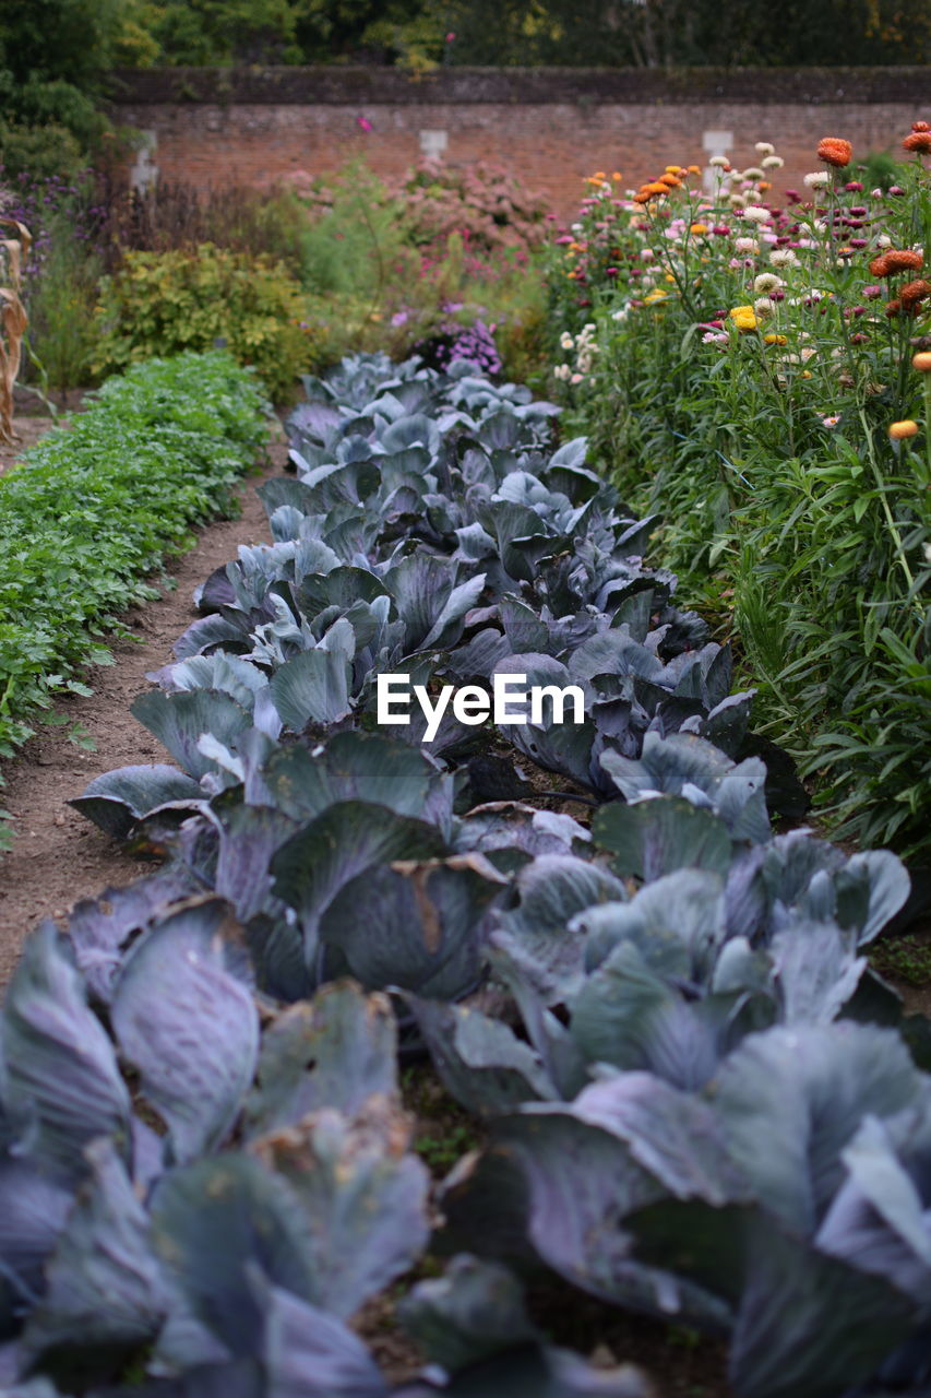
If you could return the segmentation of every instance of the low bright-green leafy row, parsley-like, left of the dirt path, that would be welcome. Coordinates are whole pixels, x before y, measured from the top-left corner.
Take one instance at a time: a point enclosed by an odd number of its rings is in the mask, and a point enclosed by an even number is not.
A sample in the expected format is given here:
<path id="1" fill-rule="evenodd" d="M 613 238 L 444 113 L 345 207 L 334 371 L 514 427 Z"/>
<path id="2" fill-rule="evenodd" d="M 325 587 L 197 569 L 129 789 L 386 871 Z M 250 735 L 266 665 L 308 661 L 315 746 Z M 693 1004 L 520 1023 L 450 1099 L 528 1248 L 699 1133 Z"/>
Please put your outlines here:
<path id="1" fill-rule="evenodd" d="M 225 354 L 185 355 L 110 379 L 0 477 L 0 756 L 109 661 L 113 614 L 152 596 L 145 575 L 229 506 L 263 438 L 254 379 Z"/>

